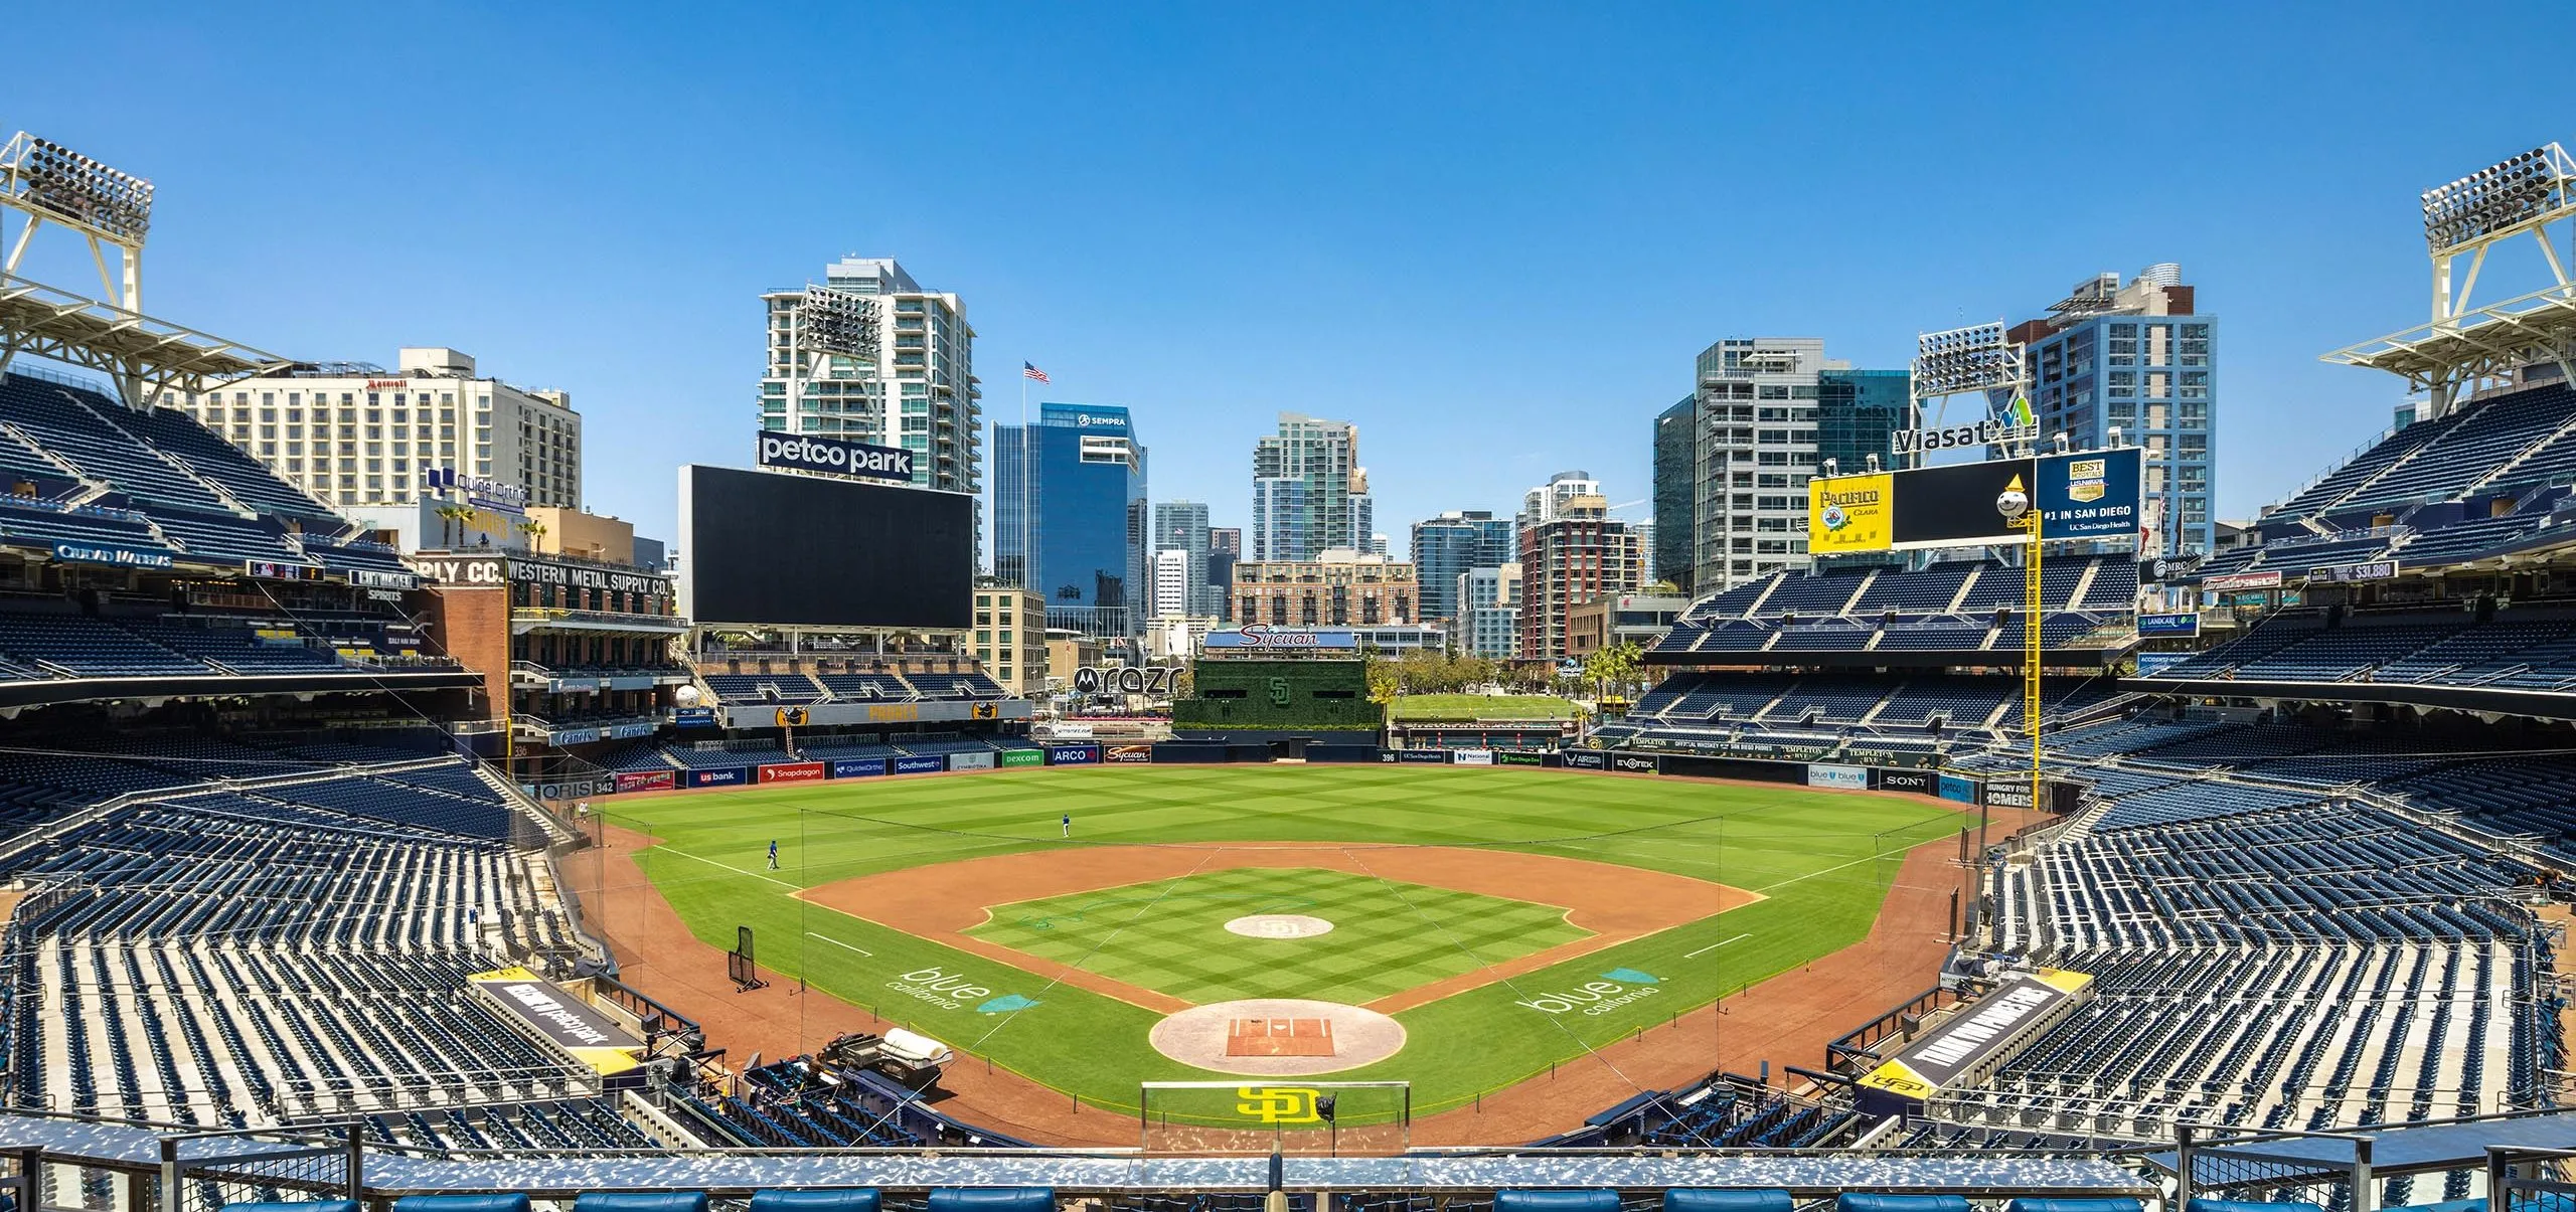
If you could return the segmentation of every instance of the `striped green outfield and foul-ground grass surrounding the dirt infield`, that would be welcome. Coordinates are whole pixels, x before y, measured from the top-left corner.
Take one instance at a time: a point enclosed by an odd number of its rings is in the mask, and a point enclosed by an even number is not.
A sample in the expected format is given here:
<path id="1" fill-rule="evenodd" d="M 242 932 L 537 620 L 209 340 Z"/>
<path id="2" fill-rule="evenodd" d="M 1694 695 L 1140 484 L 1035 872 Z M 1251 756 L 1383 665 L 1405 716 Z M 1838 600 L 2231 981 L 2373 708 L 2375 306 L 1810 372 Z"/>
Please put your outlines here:
<path id="1" fill-rule="evenodd" d="M 1154 1052 L 1146 1032 L 1159 1014 L 1149 1009 L 1048 983 L 791 893 L 984 854 L 1162 841 L 1507 847 L 1765 893 L 1752 906 L 1396 1014 L 1406 1047 L 1337 1078 L 1412 1081 L 1414 1106 L 1425 1114 L 1857 942 L 1886 898 L 1901 854 L 1953 836 L 1963 823 L 1937 800 L 1803 787 L 1510 767 L 1298 764 L 873 777 L 608 800 L 605 813 L 618 826 L 662 839 L 639 854 L 639 865 L 708 944 L 732 947 L 734 929 L 752 926 L 760 965 L 773 980 L 804 975 L 817 991 L 871 1006 L 1100 1106 L 1133 1106 L 1139 1081 L 1203 1081 L 1213 1073 Z M 1066 813 L 1074 818 L 1074 841 L 1056 836 L 1056 818 Z M 765 870 L 773 839 L 783 867 L 778 872 Z M 1301 895 L 1342 903 L 1365 893 L 1319 883 Z M 1010 888 L 992 890 L 1002 929 L 1012 929 L 1012 901 Z M 1131 914 L 1128 929 L 1190 937 L 1188 924 L 1175 921 L 1188 914 L 1198 908 Z M 1370 921 L 1406 921 L 1404 914 L 1425 934 L 1435 929 L 1437 914 L 1414 908 L 1381 908 Z M 1347 914 L 1319 916 L 1334 919 L 1340 929 L 1358 929 L 1342 921 Z M 1206 939 L 1203 932 L 1198 937 Z M 1528 942 L 1530 950 L 1546 944 Z M 1188 975 L 1206 986 L 1170 991 L 1193 1001 L 1200 991 L 1216 998 L 1262 973 L 1249 950 L 1236 950 L 1257 944 L 1260 939 L 1206 939 L 1203 947 L 1226 947 L 1244 960 L 1229 960 L 1206 975 L 1167 968 L 1151 983 Z M 1048 955 L 1051 942 L 1020 947 Z M 1092 957 L 1082 965 L 1110 975 L 1108 965 L 1139 957 L 1131 947 L 1110 952 L 1105 962 Z M 1051 957 L 1074 962 L 1061 952 Z M 1613 970 L 1643 973 L 1654 983 L 1618 983 L 1618 998 L 1602 998 L 1600 1006 L 1556 996 L 1605 983 Z M 1419 983 L 1409 975 L 1401 980 Z M 1582 1014 L 1584 1009 L 1600 1014 Z M 1886 1006 L 1852 1006 L 1852 1022 L 1880 1009 Z"/>

